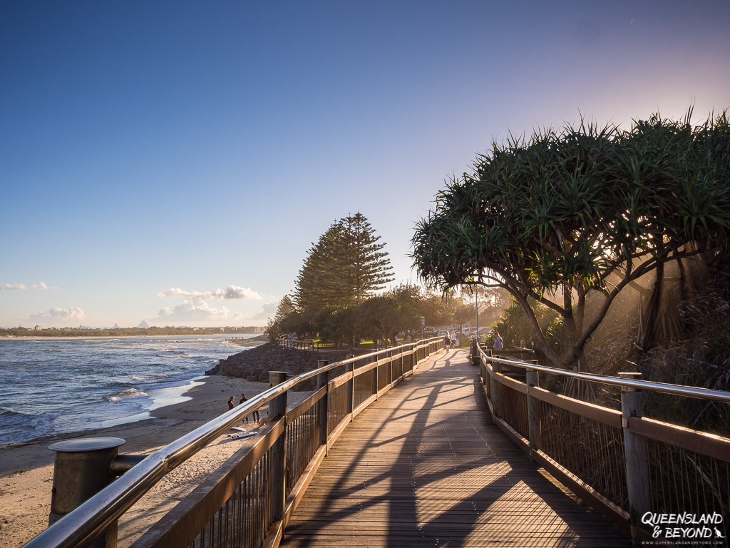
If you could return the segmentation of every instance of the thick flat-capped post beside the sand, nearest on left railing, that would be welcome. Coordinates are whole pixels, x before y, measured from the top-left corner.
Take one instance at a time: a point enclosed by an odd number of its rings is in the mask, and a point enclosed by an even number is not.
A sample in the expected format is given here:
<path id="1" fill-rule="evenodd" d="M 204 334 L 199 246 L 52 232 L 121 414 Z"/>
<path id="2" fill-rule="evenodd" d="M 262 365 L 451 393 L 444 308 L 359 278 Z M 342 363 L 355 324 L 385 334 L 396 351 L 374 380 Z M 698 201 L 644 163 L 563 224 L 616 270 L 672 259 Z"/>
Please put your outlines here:
<path id="1" fill-rule="evenodd" d="M 122 438 L 82 438 L 48 446 L 55 451 L 48 525 L 53 525 L 114 481 L 110 466 L 119 446 L 125 443 Z M 117 522 L 90 546 L 115 548 Z"/>

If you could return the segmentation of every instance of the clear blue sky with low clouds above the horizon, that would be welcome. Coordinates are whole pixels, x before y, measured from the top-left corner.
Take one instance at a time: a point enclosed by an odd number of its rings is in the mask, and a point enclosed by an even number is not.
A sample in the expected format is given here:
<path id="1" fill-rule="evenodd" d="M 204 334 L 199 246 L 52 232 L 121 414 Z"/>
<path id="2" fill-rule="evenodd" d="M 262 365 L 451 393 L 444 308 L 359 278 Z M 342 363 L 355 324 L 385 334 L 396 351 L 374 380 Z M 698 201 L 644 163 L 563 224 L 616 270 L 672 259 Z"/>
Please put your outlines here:
<path id="1" fill-rule="evenodd" d="M 730 107 L 730 2 L 0 1 L 0 326 L 264 325 L 363 213 L 580 114 Z M 24 288 L 24 289 L 23 289 Z"/>

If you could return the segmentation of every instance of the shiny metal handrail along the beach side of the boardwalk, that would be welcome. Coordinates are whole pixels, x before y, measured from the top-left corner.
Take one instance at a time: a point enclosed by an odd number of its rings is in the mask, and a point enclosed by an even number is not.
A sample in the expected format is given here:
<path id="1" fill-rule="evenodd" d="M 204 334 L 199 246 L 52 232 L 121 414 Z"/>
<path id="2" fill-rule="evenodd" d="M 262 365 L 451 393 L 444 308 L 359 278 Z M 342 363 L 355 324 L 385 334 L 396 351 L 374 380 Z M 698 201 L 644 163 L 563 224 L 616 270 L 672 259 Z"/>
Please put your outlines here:
<path id="1" fill-rule="evenodd" d="M 407 343 L 391 349 L 334 362 L 293 376 L 283 383 L 261 392 L 261 394 L 252 397 L 241 406 L 226 411 L 226 413 L 196 428 L 191 433 L 183 435 L 182 438 L 178 438 L 171 444 L 145 457 L 145 460 L 135 465 L 130 471 L 116 479 L 115 482 L 93 495 L 88 501 L 66 514 L 64 518 L 55 522 L 34 539 L 23 544 L 23 548 L 71 548 L 91 543 L 104 530 L 115 523 L 134 503 L 139 501 L 166 473 L 188 460 L 193 454 L 196 454 L 215 438 L 218 438 L 219 435 L 237 425 L 251 412 L 274 400 L 274 398 L 297 384 L 315 378 L 320 373 L 325 373 L 360 359 L 378 356 L 394 350 L 402 352 L 404 349 L 418 349 L 420 346 L 428 346 L 431 342 L 440 339 L 442 338 L 423 339 L 416 343 Z"/>

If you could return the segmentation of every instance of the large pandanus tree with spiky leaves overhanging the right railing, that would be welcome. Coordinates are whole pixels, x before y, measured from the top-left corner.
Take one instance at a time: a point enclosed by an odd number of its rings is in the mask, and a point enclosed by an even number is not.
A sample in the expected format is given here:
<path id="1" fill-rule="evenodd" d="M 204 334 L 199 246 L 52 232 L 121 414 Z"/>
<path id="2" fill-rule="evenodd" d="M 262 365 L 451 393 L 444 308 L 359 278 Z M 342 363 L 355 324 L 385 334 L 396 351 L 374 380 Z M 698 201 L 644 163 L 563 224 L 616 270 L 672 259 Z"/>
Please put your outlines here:
<path id="1" fill-rule="evenodd" d="M 653 115 L 628 130 L 583 121 L 494 142 L 417 224 L 418 273 L 444 291 L 507 289 L 549 362 L 590 372 L 585 343 L 629 284 L 656 272 L 657 293 L 666 263 L 726 256 L 726 114 L 701 126 L 691 125 L 691 110 L 682 121 Z M 586 317 L 593 296 L 601 301 Z M 535 302 L 561 316 L 563 354 L 541 332 Z"/>

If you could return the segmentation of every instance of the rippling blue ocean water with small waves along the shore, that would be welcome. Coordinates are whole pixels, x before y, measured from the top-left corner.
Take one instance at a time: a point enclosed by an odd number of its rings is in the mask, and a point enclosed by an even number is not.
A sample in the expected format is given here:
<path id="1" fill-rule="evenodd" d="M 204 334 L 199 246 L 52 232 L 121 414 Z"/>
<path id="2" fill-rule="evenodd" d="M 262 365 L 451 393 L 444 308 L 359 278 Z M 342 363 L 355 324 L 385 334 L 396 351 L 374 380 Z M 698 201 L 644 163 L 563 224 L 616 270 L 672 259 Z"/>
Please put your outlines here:
<path id="1" fill-rule="evenodd" d="M 145 419 L 245 349 L 229 338 L 0 339 L 0 444 Z"/>

